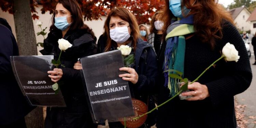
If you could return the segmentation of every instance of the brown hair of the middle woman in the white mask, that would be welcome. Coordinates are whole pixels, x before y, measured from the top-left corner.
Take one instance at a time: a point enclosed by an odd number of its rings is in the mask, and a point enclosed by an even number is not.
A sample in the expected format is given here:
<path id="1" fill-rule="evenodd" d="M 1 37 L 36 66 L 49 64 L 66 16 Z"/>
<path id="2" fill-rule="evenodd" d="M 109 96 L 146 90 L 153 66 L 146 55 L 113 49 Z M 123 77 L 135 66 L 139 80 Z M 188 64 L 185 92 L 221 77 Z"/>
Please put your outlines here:
<path id="1" fill-rule="evenodd" d="M 109 33 L 109 30 L 110 30 L 109 23 L 110 23 L 110 19 L 112 16 L 120 17 L 121 19 L 123 19 L 129 23 L 130 28 L 131 28 L 131 37 L 128 40 L 132 41 L 131 46 L 134 47 L 134 49 L 136 49 L 137 40 L 139 38 L 141 38 L 137 20 L 136 20 L 135 16 L 132 13 L 130 13 L 127 9 L 125 9 L 124 7 L 117 7 L 109 13 L 109 15 L 105 21 L 104 28 L 105 28 L 106 35 L 108 37 L 108 40 L 106 42 L 105 52 L 110 51 L 110 48 L 112 45 L 117 46 L 116 42 L 111 40 L 110 33 Z"/>

